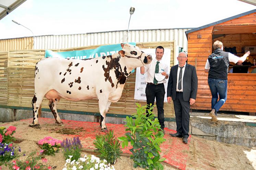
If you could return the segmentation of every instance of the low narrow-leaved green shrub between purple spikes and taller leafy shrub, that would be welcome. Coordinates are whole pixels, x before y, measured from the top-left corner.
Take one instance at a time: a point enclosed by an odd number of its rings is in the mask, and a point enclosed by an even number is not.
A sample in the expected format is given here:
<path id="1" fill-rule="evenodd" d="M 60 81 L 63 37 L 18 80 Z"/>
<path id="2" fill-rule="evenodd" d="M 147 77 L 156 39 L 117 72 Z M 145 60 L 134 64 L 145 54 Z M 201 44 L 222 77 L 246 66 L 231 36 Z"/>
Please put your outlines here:
<path id="1" fill-rule="evenodd" d="M 97 148 L 95 152 L 101 159 L 106 159 L 108 163 L 114 164 L 117 158 L 120 158 L 122 153 L 119 140 L 114 136 L 112 130 L 106 132 L 106 134 L 96 135 L 94 145 Z"/>

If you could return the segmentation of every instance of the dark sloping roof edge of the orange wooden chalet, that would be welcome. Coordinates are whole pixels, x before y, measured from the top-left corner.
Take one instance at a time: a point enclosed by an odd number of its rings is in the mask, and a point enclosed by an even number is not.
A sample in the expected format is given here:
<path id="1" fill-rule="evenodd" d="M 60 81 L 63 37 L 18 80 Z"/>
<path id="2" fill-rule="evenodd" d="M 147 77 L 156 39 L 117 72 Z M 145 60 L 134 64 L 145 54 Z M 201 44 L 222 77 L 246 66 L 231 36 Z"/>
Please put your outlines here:
<path id="1" fill-rule="evenodd" d="M 217 25 L 217 24 L 220 24 L 220 23 L 224 23 L 224 22 L 226 22 L 226 21 L 228 21 L 228 20 L 232 20 L 232 19 L 239 18 L 239 17 L 245 16 L 245 15 L 249 15 L 249 14 L 252 14 L 252 13 L 254 13 L 254 12 L 256 12 L 256 9 L 251 10 L 251 11 L 247 11 L 247 12 L 244 12 L 244 13 L 242 13 L 242 14 L 235 15 L 235 16 L 231 16 L 231 17 L 229 17 L 229 18 L 225 18 L 225 19 L 219 20 L 219 21 L 214 22 L 214 23 L 211 23 L 211 24 L 207 24 L 207 25 L 204 25 L 204 26 L 201 26 L 201 27 L 197 27 L 197 28 L 194 28 L 194 29 L 185 31 L 186 37 L 187 37 L 187 34 L 188 34 L 188 33 L 195 32 L 195 31 L 198 31 L 198 30 L 201 30 L 201 29 L 204 29 L 204 28 L 213 26 L 213 25 Z"/>

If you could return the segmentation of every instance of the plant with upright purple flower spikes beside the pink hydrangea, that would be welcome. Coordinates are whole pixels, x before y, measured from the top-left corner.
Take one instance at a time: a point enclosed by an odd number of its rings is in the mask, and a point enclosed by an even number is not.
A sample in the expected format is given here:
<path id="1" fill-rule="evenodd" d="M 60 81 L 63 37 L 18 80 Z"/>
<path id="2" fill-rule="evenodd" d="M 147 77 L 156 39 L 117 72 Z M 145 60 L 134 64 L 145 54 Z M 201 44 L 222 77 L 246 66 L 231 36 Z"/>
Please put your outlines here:
<path id="1" fill-rule="evenodd" d="M 81 157 L 82 144 L 79 137 L 74 137 L 73 139 L 66 138 L 60 145 L 65 159 L 69 159 L 69 155 L 72 155 L 71 161 L 78 160 Z"/>

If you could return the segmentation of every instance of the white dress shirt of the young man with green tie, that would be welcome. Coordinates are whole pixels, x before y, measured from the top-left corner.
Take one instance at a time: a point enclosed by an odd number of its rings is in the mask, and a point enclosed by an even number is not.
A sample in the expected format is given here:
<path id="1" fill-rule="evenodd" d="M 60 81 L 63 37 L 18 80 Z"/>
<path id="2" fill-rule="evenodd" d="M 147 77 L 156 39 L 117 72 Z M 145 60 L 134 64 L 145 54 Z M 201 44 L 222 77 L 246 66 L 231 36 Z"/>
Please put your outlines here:
<path id="1" fill-rule="evenodd" d="M 146 76 L 145 81 L 148 83 L 154 83 L 154 77 L 155 77 L 155 70 L 156 70 L 156 64 L 157 64 L 157 59 L 153 59 L 153 61 L 150 62 L 150 64 L 145 65 L 145 73 L 147 73 L 148 76 Z M 167 66 L 166 63 L 163 62 L 163 60 L 159 61 L 159 73 L 166 72 L 169 75 L 169 67 Z M 158 82 L 160 83 L 165 83 L 166 80 L 163 79 L 162 81 Z"/>

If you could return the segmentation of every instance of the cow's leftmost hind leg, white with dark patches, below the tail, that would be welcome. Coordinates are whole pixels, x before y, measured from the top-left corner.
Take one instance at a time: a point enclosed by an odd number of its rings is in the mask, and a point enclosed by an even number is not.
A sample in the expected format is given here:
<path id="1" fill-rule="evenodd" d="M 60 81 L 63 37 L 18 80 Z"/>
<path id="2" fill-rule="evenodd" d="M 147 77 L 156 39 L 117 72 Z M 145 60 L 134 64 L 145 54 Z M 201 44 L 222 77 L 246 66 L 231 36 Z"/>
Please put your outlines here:
<path id="1" fill-rule="evenodd" d="M 30 127 L 40 128 L 40 125 L 38 123 L 38 110 L 40 108 L 40 105 L 42 103 L 44 96 L 40 95 L 34 95 L 32 99 L 32 108 L 33 108 L 33 122 L 30 124 Z"/>

